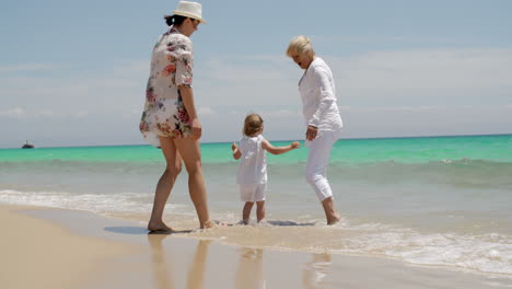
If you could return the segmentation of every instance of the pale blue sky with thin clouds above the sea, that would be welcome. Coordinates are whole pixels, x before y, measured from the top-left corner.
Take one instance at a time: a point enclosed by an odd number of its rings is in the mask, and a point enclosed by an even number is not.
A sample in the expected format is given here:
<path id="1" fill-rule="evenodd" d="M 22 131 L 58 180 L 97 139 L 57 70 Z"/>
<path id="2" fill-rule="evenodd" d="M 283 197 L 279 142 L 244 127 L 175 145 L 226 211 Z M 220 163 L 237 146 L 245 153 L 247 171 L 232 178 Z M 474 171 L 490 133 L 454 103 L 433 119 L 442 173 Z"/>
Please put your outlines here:
<path id="1" fill-rule="evenodd" d="M 203 141 L 302 139 L 284 56 L 312 38 L 345 138 L 512 132 L 512 1 L 205 0 L 191 39 Z M 151 48 L 177 1 L 9 1 L 0 11 L 0 148 L 144 143 Z"/>

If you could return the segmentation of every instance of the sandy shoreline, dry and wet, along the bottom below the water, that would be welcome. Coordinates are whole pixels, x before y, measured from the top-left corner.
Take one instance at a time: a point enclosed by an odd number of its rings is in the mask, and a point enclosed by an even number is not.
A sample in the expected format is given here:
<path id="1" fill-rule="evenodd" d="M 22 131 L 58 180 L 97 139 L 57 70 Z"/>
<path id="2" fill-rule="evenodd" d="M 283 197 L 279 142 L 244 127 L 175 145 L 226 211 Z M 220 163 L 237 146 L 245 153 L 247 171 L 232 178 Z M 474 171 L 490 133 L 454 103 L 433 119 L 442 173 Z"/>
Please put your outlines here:
<path id="1" fill-rule="evenodd" d="M 397 261 L 223 245 L 208 233 L 148 235 L 141 223 L 83 211 L 0 205 L 0 226 L 4 288 L 512 287 Z"/>

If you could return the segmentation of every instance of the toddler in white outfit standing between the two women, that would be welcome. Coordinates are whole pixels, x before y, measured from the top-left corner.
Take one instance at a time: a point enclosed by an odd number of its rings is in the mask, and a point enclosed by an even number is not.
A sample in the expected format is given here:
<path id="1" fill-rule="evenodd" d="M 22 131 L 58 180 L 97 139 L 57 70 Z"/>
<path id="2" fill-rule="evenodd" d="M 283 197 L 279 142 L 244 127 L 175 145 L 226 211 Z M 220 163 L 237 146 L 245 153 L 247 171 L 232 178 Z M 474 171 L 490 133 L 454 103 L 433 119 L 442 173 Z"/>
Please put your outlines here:
<path id="1" fill-rule="evenodd" d="M 289 146 L 274 147 L 264 138 L 263 118 L 257 114 L 249 114 L 244 120 L 244 136 L 240 147 L 233 142 L 233 158 L 240 160 L 236 183 L 240 186 L 241 200 L 245 203 L 242 210 L 242 223 L 248 224 L 251 210 L 256 203 L 256 218 L 258 222 L 265 220 L 265 199 L 267 189 L 267 155 L 281 154 L 300 147 L 299 141 Z"/>

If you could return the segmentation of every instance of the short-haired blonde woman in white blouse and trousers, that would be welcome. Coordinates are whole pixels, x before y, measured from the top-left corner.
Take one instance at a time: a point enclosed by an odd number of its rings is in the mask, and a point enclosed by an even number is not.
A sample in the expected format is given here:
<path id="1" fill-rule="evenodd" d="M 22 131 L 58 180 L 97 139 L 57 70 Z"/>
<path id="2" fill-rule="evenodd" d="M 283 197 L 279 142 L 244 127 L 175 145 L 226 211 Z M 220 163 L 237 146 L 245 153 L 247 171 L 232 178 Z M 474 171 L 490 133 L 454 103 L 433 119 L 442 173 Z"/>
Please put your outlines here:
<path id="1" fill-rule="evenodd" d="M 339 222 L 340 216 L 335 208 L 326 172 L 330 150 L 340 136 L 342 122 L 336 103 L 333 72 L 322 58 L 315 56 L 306 36 L 293 37 L 287 55 L 304 69 L 299 91 L 306 126 L 305 147 L 310 147 L 305 178 L 324 207 L 327 224 L 335 224 Z"/>

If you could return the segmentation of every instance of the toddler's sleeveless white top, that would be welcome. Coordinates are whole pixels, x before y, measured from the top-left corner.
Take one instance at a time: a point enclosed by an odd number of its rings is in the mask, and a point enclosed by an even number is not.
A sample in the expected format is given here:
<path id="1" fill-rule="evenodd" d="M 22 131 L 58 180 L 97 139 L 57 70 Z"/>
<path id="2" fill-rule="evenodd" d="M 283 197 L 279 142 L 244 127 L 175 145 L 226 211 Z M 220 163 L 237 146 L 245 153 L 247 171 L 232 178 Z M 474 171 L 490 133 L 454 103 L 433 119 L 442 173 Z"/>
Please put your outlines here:
<path id="1" fill-rule="evenodd" d="M 236 184 L 267 183 L 267 151 L 261 147 L 263 135 L 257 137 L 242 137 L 238 150 L 242 158 L 238 163 Z"/>

